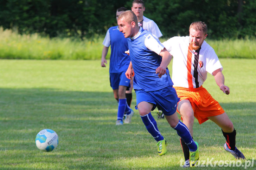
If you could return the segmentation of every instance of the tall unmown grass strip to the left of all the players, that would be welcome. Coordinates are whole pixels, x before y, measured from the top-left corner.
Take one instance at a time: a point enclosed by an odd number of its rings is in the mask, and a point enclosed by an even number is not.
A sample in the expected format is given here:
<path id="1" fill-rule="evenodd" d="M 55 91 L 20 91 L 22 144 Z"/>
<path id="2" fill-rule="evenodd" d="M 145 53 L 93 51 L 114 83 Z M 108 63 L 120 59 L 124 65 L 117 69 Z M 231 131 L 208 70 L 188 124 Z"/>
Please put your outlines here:
<path id="1" fill-rule="evenodd" d="M 38 34 L 20 35 L 3 28 L 0 28 L 0 42 L 1 59 L 94 60 L 101 58 L 103 48 L 103 38 L 85 41 L 49 38 Z"/>

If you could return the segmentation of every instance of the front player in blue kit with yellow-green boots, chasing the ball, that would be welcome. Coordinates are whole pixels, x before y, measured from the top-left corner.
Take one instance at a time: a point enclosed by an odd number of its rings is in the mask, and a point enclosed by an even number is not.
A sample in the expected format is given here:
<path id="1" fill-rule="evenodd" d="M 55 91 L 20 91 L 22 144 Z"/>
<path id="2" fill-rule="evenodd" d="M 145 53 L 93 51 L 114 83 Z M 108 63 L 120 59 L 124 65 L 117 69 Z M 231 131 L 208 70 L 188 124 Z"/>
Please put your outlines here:
<path id="1" fill-rule="evenodd" d="M 128 41 L 128 53 L 131 62 L 126 71 L 131 79 L 134 72 L 133 88 L 136 93 L 136 109 L 142 122 L 154 137 L 160 156 L 167 153 L 165 138 L 158 130 L 151 115 L 158 105 L 165 114 L 167 122 L 177 131 L 190 150 L 191 166 L 198 163 L 198 144 L 194 142 L 186 125 L 179 121 L 176 113 L 179 98 L 167 68 L 172 56 L 152 33 L 138 26 L 137 17 L 132 11 L 125 11 L 117 18 L 120 32 Z"/>

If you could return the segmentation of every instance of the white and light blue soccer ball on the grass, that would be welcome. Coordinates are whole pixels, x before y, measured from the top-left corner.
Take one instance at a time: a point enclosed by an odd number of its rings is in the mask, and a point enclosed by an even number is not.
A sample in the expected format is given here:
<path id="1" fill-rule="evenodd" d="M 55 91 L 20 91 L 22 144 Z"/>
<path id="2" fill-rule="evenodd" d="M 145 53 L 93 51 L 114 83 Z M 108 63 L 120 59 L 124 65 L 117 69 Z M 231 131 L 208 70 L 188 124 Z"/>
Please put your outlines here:
<path id="1" fill-rule="evenodd" d="M 36 145 L 37 148 L 45 151 L 50 152 L 54 148 L 56 148 L 59 144 L 58 135 L 55 131 L 51 129 L 44 129 L 41 130 L 36 136 Z"/>

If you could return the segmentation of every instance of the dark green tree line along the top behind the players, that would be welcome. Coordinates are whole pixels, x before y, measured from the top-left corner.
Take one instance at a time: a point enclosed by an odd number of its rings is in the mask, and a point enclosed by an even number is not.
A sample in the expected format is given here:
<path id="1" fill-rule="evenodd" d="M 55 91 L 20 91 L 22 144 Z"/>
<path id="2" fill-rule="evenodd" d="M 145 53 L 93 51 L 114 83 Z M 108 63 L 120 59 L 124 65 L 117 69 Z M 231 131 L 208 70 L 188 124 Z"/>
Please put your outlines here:
<path id="1" fill-rule="evenodd" d="M 208 25 L 211 39 L 256 37 L 255 0 L 144 0 L 144 15 L 159 26 L 164 37 L 184 36 L 193 21 Z M 105 35 L 117 25 L 119 7 L 132 0 L 1 0 L 0 26 L 20 34 L 50 37 Z"/>

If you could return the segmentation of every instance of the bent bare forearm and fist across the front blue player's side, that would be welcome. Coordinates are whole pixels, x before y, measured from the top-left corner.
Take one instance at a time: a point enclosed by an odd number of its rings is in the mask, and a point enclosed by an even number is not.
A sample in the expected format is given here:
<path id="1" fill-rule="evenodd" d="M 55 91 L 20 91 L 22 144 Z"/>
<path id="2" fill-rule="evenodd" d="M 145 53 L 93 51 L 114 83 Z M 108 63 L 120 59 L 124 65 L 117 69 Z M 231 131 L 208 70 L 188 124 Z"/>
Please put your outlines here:
<path id="1" fill-rule="evenodd" d="M 166 50 L 166 48 L 162 49 L 159 53 L 162 56 L 162 62 L 158 68 L 156 68 L 155 73 L 158 74 L 158 77 L 161 78 L 162 75 L 166 73 L 166 68 L 172 60 L 171 54 Z"/>

